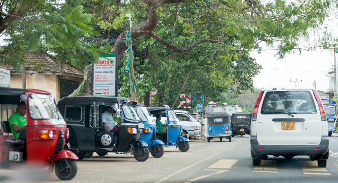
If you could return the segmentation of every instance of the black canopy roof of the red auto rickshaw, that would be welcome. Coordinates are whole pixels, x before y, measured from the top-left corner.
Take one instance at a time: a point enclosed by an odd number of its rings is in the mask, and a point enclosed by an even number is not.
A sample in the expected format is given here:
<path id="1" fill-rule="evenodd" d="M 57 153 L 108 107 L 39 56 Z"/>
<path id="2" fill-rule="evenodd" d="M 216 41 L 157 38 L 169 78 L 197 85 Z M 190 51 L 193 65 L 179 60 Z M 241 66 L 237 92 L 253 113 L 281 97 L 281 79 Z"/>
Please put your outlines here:
<path id="1" fill-rule="evenodd" d="M 14 104 L 14 105 L 19 104 L 20 103 L 20 96 L 26 95 L 26 91 L 48 93 L 46 91 L 35 90 L 35 89 L 0 87 L 0 104 Z"/>

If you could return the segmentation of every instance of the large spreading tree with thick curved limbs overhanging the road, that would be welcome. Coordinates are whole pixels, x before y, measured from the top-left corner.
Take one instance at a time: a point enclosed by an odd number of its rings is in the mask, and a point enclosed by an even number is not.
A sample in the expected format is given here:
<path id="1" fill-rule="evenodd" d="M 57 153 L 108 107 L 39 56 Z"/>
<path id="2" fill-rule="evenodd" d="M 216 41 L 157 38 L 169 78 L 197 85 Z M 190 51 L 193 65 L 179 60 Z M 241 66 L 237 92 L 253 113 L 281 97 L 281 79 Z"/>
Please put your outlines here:
<path id="1" fill-rule="evenodd" d="M 333 0 L 267 3 L 96 0 L 90 3 L 90 7 L 86 6 L 89 12 L 105 12 L 101 13 L 98 24 L 102 29 L 111 30 L 116 26 L 111 22 L 122 23 L 127 15 L 131 17 L 132 40 L 139 49 L 135 55 L 140 58 L 135 65 L 139 75 L 137 91 L 156 88 L 156 103 L 173 106 L 181 100 L 182 92 L 196 98 L 204 95 L 207 100 L 220 100 L 221 92 L 253 90 L 252 77 L 261 67 L 249 56 L 249 51 L 259 49 L 258 44 L 266 42 L 276 47 L 278 56 L 283 58 L 285 53 L 293 52 L 300 39 L 309 38 L 310 31 L 323 30 L 320 41 L 327 41 L 330 32 L 325 29 L 324 20 L 335 4 Z M 125 37 L 123 31 L 114 42 L 112 51 L 119 53 L 118 61 L 126 49 Z M 119 65 L 123 67 L 124 63 Z M 119 72 L 122 78 L 126 76 L 121 73 L 122 70 Z M 121 95 L 128 96 L 124 84 L 120 79 Z M 144 95 L 139 93 L 141 98 Z"/>

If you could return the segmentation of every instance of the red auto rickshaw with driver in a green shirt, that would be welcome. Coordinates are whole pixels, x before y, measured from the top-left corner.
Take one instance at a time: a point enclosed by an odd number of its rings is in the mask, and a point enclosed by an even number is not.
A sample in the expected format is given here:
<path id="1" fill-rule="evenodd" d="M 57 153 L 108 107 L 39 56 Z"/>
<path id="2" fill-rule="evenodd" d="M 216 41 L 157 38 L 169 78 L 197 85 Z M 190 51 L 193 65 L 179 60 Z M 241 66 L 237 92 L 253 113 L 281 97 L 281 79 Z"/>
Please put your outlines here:
<path id="1" fill-rule="evenodd" d="M 21 101 L 26 103 L 26 144 L 9 134 L 8 118 L 11 114 L 8 114 L 8 108 L 17 107 Z M 75 177 L 78 167 L 74 160 L 78 157 L 63 150 L 69 130 L 51 93 L 0 87 L 0 104 L 2 109 L 7 108 L 7 113 L 2 112 L 7 114 L 7 121 L 1 122 L 4 133 L 0 133 L 0 169 L 49 166 L 51 172 L 55 167 L 55 174 L 62 180 Z M 27 158 L 22 157 L 24 149 L 27 149 Z"/>

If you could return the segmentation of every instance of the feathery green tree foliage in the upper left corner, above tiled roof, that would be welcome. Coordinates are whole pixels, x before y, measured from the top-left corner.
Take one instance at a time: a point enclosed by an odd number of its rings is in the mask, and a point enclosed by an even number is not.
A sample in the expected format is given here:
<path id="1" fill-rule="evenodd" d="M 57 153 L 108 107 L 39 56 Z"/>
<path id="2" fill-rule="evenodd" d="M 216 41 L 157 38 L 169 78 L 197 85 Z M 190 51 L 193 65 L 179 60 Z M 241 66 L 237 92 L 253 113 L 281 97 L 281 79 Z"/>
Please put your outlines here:
<path id="1" fill-rule="evenodd" d="M 30 52 L 52 54 L 59 61 L 84 68 L 109 49 L 85 41 L 99 33 L 89 25 L 92 15 L 84 13 L 81 5 L 57 0 L 2 0 L 0 13 L 0 37 L 5 42 L 0 48 L 0 64 L 18 70 Z"/>

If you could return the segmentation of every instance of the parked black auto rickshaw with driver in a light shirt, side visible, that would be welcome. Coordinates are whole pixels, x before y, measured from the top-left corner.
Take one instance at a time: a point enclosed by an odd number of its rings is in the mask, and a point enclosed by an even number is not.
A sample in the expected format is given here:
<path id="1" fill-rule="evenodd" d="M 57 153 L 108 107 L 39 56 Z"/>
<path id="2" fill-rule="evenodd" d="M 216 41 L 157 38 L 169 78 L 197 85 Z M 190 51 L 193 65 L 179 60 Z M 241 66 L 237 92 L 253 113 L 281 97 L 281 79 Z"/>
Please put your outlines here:
<path id="1" fill-rule="evenodd" d="M 139 140 L 144 124 L 135 112 L 134 101 L 123 97 L 75 96 L 58 102 L 59 110 L 70 129 L 65 149 L 76 153 L 79 159 L 89 158 L 93 152 L 105 156 L 108 152 L 134 155 L 138 161 L 149 157 L 148 144 Z M 112 115 L 119 122 L 119 134 L 105 132 L 102 113 L 112 107 Z M 117 137 L 115 144 L 114 137 Z"/>

